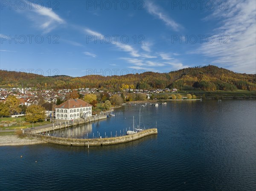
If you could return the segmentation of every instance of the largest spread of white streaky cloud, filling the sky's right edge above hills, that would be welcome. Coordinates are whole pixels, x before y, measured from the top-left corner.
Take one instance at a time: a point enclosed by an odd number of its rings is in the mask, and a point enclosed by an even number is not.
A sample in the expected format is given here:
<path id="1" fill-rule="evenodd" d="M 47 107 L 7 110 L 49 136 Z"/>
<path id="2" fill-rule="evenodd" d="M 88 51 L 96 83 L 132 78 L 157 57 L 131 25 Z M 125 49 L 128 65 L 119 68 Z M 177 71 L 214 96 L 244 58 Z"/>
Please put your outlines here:
<path id="1" fill-rule="evenodd" d="M 191 53 L 203 54 L 212 63 L 242 73 L 256 73 L 256 1 L 229 1 L 229 10 L 215 9 L 205 20 L 220 19 L 215 41 L 203 43 Z M 221 41 L 220 36 L 221 35 Z M 225 36 L 227 35 L 227 36 Z"/>

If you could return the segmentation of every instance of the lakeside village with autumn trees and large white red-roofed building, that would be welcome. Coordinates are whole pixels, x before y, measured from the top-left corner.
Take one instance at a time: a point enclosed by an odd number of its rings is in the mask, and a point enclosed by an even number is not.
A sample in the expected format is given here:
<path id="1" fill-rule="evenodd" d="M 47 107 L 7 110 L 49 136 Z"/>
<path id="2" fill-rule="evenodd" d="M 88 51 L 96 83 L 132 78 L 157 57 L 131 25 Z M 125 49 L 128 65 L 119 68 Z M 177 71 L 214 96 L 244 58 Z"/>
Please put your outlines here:
<path id="1" fill-rule="evenodd" d="M 126 101 L 157 100 L 159 97 L 154 94 L 163 92 L 170 94 L 177 91 L 176 88 L 156 90 L 123 88 L 117 92 L 102 91 L 97 88 L 60 89 L 57 91 L 54 89 L 0 88 L 0 103 L 7 107 L 9 97 L 12 97 L 12 102 L 14 102 L 13 99 L 16 99 L 20 109 L 10 111 L 8 114 L 12 117 L 26 114 L 26 108 L 29 106 L 40 105 L 44 108 L 45 118 L 72 120 L 107 111 L 111 109 L 111 104 L 122 105 Z M 161 98 L 169 99 L 169 94 L 164 94 L 165 97 Z M 5 104 L 7 102 L 8 104 Z M 1 113 L 1 116 L 7 115 L 4 113 L 3 107 Z"/>

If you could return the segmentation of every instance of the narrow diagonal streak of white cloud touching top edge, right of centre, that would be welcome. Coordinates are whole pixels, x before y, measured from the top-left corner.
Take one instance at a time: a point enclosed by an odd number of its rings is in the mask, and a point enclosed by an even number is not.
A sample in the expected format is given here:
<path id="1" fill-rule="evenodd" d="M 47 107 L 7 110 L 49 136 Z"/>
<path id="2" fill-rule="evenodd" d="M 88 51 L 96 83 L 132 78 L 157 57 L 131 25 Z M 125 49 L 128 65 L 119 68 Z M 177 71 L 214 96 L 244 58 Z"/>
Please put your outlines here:
<path id="1" fill-rule="evenodd" d="M 166 26 L 171 27 L 175 31 L 179 31 L 179 29 L 182 28 L 180 24 L 172 20 L 166 13 L 162 11 L 162 9 L 159 6 L 154 4 L 152 1 L 144 1 L 144 2 L 145 2 L 145 8 L 148 11 L 148 13 L 162 20 L 166 24 Z"/>

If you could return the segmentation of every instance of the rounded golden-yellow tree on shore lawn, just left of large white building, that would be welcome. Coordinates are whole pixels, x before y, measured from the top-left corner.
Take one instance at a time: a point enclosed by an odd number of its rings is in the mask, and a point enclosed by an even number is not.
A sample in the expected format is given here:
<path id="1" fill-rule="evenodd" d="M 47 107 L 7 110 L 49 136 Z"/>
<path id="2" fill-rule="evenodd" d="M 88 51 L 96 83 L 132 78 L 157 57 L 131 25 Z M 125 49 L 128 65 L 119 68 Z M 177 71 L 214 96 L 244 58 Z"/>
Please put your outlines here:
<path id="1" fill-rule="evenodd" d="M 45 111 L 41 105 L 29 105 L 26 109 L 26 121 L 38 122 L 45 118 Z"/>

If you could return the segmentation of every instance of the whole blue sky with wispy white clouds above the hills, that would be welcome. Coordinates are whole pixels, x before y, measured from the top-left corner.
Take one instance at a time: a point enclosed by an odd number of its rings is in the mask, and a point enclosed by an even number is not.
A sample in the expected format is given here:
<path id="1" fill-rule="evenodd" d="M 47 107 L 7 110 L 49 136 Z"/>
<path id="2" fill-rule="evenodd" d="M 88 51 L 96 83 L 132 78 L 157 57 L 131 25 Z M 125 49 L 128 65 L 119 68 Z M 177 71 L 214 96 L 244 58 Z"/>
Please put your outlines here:
<path id="1" fill-rule="evenodd" d="M 256 74 L 256 1 L 0 1 L 0 68 L 125 75 L 215 65 Z"/>

